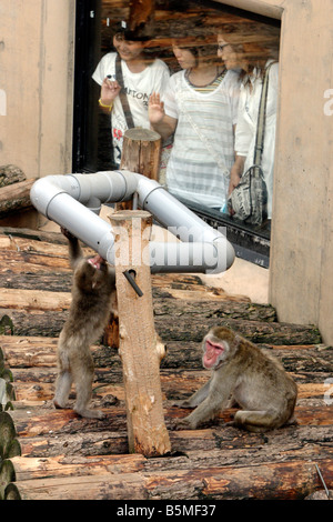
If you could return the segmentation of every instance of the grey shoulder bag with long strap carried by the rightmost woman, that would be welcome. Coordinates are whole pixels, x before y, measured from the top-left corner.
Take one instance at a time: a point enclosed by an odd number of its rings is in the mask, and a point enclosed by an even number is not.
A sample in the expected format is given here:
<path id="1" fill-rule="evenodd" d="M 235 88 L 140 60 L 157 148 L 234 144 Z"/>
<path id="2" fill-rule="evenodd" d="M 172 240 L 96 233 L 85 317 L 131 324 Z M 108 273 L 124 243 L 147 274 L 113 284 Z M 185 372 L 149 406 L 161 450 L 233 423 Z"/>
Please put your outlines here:
<path id="1" fill-rule="evenodd" d="M 234 188 L 228 199 L 228 208 L 230 213 L 233 211 L 233 219 L 255 225 L 261 225 L 268 219 L 268 188 L 261 161 L 264 148 L 269 71 L 273 63 L 275 62 L 270 63 L 265 69 L 263 78 L 253 165 L 244 172 L 240 184 Z"/>

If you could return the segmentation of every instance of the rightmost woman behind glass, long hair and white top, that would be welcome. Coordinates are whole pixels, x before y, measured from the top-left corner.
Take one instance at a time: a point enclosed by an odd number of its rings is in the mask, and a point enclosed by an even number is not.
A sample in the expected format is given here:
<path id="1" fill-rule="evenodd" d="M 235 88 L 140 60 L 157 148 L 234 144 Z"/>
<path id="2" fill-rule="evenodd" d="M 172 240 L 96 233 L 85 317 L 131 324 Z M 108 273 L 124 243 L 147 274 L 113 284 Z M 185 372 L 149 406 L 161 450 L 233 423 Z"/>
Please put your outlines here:
<path id="1" fill-rule="evenodd" d="M 269 58 L 270 51 L 259 43 L 231 43 L 231 34 L 219 34 L 219 56 L 228 70 L 240 70 L 242 80 L 238 126 L 235 131 L 236 160 L 231 169 L 229 194 L 240 183 L 241 177 L 253 164 L 258 114 L 263 84 L 263 73 L 269 71 L 269 94 L 262 169 L 268 188 L 268 218 L 272 218 L 273 171 L 279 89 L 279 63 Z"/>

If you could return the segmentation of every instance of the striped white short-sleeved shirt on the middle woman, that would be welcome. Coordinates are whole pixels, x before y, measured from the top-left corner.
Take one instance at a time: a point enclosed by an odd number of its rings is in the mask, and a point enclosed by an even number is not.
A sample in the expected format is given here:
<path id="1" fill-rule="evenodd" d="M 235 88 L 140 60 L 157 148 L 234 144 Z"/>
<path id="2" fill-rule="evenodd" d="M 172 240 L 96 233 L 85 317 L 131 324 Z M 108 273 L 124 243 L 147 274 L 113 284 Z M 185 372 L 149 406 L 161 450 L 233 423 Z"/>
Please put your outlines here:
<path id="1" fill-rule="evenodd" d="M 164 96 L 165 113 L 178 120 L 167 168 L 168 190 L 175 197 L 223 207 L 234 163 L 239 76 L 228 71 L 213 88 L 196 90 L 185 71 L 173 74 Z"/>

